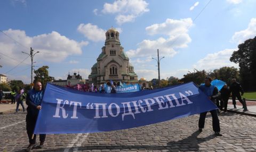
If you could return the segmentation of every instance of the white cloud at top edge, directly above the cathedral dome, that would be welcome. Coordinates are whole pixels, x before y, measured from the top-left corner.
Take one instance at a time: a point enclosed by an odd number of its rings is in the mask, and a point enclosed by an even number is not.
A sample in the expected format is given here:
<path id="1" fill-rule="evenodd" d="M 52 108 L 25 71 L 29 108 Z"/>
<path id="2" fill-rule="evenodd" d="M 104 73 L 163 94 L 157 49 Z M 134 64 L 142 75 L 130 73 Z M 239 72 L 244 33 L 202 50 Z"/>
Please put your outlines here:
<path id="1" fill-rule="evenodd" d="M 115 20 L 118 25 L 125 22 L 132 22 L 139 15 L 148 12 L 148 3 L 143 0 L 117 0 L 113 4 L 105 3 L 102 13 L 116 14 Z"/>

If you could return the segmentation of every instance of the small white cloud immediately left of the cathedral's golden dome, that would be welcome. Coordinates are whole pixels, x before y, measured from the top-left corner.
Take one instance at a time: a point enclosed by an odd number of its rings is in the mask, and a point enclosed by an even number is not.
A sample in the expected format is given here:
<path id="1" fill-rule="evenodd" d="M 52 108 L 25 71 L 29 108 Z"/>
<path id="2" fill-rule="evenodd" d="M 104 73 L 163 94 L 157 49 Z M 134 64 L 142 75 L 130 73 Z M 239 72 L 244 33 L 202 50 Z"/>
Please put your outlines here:
<path id="1" fill-rule="evenodd" d="M 82 33 L 84 37 L 90 39 L 93 42 L 104 41 L 106 39 L 105 33 L 106 31 L 99 28 L 97 25 L 92 25 L 91 23 L 81 23 L 77 30 L 79 33 Z"/>

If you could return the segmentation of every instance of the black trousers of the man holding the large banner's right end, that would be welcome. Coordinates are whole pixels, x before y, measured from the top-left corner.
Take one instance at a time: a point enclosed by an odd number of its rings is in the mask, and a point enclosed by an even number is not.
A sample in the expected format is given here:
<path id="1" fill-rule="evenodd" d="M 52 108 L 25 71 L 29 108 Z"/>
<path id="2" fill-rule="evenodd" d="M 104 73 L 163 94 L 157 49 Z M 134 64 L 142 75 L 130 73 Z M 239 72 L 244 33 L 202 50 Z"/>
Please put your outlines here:
<path id="1" fill-rule="evenodd" d="M 210 113 L 212 115 L 213 131 L 214 132 L 220 132 L 220 121 L 219 121 L 219 118 L 218 118 L 217 109 L 211 110 Z M 199 121 L 198 121 L 198 127 L 199 128 L 204 128 L 206 114 L 207 114 L 207 111 L 200 114 L 200 118 L 199 118 Z"/>

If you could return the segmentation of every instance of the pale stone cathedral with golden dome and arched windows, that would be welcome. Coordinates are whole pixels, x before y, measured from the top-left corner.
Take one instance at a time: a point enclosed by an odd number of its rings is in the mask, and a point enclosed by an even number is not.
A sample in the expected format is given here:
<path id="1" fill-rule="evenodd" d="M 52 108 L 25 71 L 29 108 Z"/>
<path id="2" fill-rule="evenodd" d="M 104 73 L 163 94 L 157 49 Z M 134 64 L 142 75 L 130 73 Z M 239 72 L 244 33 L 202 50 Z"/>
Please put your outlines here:
<path id="1" fill-rule="evenodd" d="M 110 85 L 110 80 L 117 86 L 120 81 L 126 84 L 139 82 L 138 76 L 134 73 L 134 68 L 124 52 L 124 47 L 121 46 L 119 32 L 115 28 L 110 28 L 106 32 L 105 46 L 101 48 L 97 62 L 91 69 L 89 82 L 94 85 L 103 83 Z"/>

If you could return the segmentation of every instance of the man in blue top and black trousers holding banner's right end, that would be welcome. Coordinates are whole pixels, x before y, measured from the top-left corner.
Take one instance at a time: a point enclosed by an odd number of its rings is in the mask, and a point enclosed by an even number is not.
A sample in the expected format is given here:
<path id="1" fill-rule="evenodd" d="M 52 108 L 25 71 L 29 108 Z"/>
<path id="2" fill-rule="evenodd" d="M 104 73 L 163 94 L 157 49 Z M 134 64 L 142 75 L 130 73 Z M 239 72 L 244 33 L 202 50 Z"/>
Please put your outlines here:
<path id="1" fill-rule="evenodd" d="M 211 82 L 212 82 L 211 77 L 206 77 L 204 79 L 204 84 L 200 85 L 199 89 L 202 90 L 207 95 L 207 97 L 213 103 L 216 104 L 215 99 L 219 97 L 218 89 L 217 87 L 213 86 Z M 210 113 L 212 115 L 212 127 L 213 127 L 213 131 L 215 132 L 215 135 L 222 136 L 220 134 L 220 121 L 218 118 L 217 109 L 211 110 Z M 207 114 L 207 111 L 200 114 L 199 121 L 198 121 L 198 127 L 200 132 L 203 131 L 206 114 Z"/>

